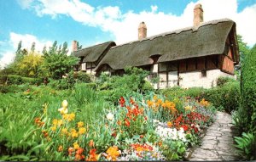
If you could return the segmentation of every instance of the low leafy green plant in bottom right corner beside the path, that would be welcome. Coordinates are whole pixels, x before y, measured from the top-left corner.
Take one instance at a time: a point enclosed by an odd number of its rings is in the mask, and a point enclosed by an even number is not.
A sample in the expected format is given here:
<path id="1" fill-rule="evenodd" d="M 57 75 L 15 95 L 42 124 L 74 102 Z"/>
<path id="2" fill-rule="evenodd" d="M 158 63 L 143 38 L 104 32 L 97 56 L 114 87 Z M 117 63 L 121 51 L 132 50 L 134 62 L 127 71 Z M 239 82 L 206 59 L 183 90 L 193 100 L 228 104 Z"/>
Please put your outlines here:
<path id="1" fill-rule="evenodd" d="M 243 132 L 242 137 L 235 137 L 236 148 L 239 148 L 238 154 L 244 159 L 256 159 L 256 136 L 252 133 Z"/>

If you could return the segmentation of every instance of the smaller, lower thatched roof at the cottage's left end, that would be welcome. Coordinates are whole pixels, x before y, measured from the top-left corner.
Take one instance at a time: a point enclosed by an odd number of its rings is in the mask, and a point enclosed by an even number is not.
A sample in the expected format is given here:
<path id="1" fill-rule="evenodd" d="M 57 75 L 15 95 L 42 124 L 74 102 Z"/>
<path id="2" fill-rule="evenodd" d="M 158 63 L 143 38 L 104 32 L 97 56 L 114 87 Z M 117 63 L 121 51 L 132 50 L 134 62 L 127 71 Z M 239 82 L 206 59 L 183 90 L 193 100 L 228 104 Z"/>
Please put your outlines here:
<path id="1" fill-rule="evenodd" d="M 83 62 L 95 62 L 102 56 L 102 54 L 107 53 L 110 47 L 115 45 L 115 42 L 103 42 L 102 44 L 75 51 L 73 52 L 73 55 L 79 58 L 83 57 Z"/>

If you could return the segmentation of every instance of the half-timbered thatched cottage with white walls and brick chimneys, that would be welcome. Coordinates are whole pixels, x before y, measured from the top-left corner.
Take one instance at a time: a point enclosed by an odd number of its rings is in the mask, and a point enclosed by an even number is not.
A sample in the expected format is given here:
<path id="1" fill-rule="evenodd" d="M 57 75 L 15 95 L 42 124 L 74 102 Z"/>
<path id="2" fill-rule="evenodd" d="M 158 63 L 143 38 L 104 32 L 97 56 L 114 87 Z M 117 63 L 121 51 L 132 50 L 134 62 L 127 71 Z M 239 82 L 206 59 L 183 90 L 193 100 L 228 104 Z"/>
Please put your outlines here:
<path id="1" fill-rule="evenodd" d="M 160 76 L 154 88 L 214 87 L 219 76 L 234 76 L 239 63 L 236 23 L 232 20 L 203 22 L 201 4 L 194 8 L 194 25 L 147 37 L 147 26 L 138 27 L 138 40 L 116 46 L 105 42 L 74 54 L 89 65 L 90 72 L 122 74 L 126 66 L 150 71 L 150 80 Z M 84 58 L 83 58 L 84 57 Z M 88 58 L 88 59 L 87 59 Z M 83 69 L 83 68 L 82 68 Z"/>

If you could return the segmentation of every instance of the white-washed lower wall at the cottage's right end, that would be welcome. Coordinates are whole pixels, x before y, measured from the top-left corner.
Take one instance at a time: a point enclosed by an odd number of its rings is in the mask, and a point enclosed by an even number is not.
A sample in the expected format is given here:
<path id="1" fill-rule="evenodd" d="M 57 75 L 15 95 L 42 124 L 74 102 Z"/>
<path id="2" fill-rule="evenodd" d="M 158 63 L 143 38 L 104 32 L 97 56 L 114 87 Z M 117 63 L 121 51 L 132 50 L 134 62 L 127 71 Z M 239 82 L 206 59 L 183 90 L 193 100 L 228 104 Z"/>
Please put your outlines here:
<path id="1" fill-rule="evenodd" d="M 186 73 L 179 73 L 182 80 L 179 81 L 179 86 L 183 88 L 189 87 L 216 87 L 217 79 L 219 76 L 230 76 L 235 78 L 234 75 L 229 75 L 221 70 L 207 70 L 207 76 L 201 76 L 201 71 L 193 71 Z"/>

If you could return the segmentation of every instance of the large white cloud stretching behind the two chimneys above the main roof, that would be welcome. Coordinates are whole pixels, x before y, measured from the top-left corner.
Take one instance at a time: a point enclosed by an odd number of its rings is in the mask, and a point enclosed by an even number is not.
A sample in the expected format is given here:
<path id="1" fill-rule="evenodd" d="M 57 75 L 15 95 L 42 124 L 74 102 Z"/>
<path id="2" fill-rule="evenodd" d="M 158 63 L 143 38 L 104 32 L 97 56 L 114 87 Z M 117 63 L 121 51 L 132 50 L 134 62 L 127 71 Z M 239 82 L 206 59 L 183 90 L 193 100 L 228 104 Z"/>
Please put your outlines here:
<path id="1" fill-rule="evenodd" d="M 151 6 L 151 11 L 122 13 L 119 7 L 92 7 L 80 0 L 38 0 L 37 5 L 31 3 L 38 15 L 49 14 L 55 18 L 58 14 L 65 14 L 73 20 L 84 25 L 96 26 L 102 31 L 110 31 L 115 36 L 115 42 L 124 43 L 137 40 L 137 27 L 144 21 L 148 27 L 148 36 L 166 31 L 176 30 L 191 26 L 193 23 L 193 8 L 196 3 L 201 3 L 204 9 L 204 20 L 229 18 L 236 21 L 237 34 L 243 36 L 244 42 L 253 46 L 256 42 L 256 4 L 244 8 L 237 13 L 236 0 L 199 0 L 188 3 L 183 14 L 166 14 Z M 172 11 L 170 10 L 170 13 Z"/>

